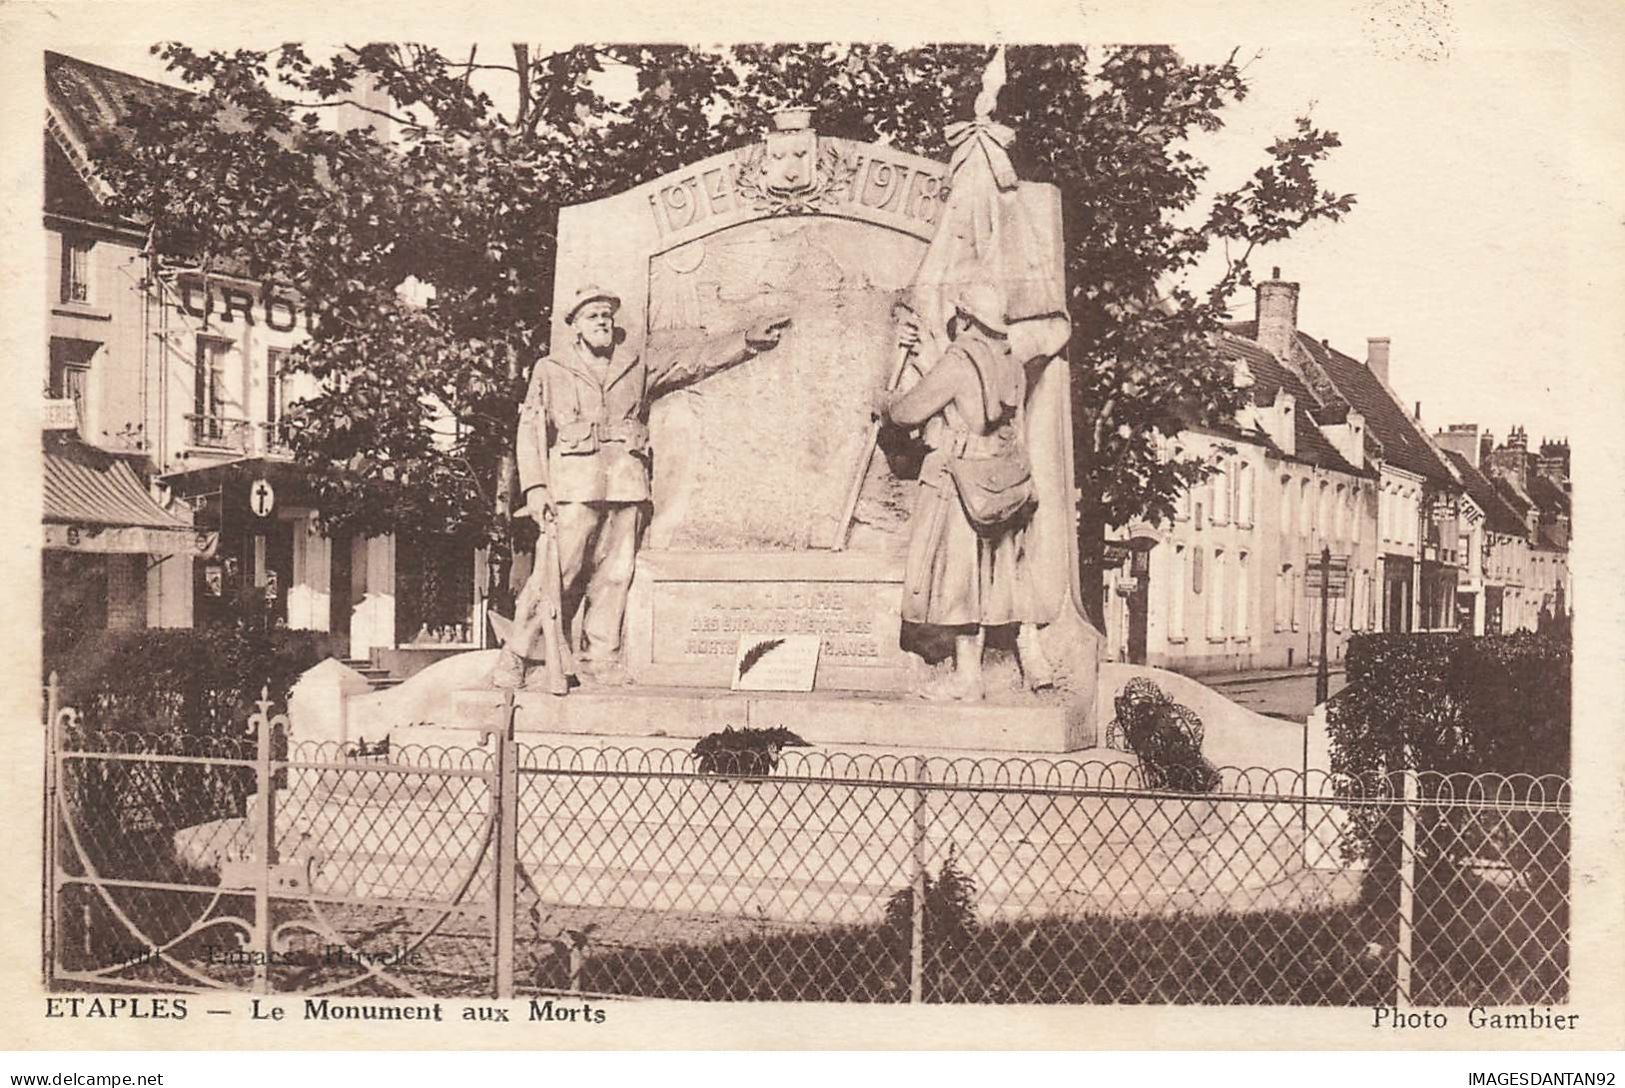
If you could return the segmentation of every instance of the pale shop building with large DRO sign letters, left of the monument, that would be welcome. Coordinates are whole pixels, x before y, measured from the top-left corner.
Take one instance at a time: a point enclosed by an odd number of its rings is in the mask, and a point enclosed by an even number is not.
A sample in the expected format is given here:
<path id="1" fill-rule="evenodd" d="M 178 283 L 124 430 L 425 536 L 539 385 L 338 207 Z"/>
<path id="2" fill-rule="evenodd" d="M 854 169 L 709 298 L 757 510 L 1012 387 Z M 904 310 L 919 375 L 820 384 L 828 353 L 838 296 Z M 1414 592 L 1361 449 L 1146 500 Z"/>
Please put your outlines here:
<path id="1" fill-rule="evenodd" d="M 254 609 L 328 635 L 330 650 L 349 658 L 474 645 L 473 549 L 322 531 L 286 443 L 289 408 L 315 393 L 309 375 L 289 372 L 312 326 L 301 292 L 153 260 L 140 224 L 102 206 L 93 136 L 117 125 L 130 99 L 182 91 L 58 54 L 47 54 L 46 86 L 47 398 L 72 401 L 80 438 L 140 464 L 159 505 L 192 529 L 187 539 L 208 541 L 206 554 L 193 547 L 146 565 L 140 625 L 203 625 Z M 133 578 L 132 565 L 109 585 L 128 598 Z M 47 578 L 47 596 L 55 588 L 60 598 L 63 581 Z"/>

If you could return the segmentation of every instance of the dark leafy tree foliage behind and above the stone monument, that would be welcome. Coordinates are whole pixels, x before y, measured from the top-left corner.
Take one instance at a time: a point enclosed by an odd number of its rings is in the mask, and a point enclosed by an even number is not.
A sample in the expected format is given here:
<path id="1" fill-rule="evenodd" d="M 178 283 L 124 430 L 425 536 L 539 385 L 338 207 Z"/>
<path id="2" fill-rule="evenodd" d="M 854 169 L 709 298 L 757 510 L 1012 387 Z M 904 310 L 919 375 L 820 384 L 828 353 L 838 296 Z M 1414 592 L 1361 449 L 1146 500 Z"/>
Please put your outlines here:
<path id="1" fill-rule="evenodd" d="M 512 60 L 362 45 L 323 63 L 297 45 L 197 54 L 161 47 L 195 97 L 133 109 L 99 148 L 119 209 L 171 260 L 297 284 L 318 325 L 294 365 L 322 382 L 297 406 L 294 448 L 330 526 L 453 534 L 504 554 L 500 503 L 523 370 L 548 348 L 554 224 L 580 203 L 759 136 L 774 109 L 811 106 L 821 132 L 946 158 L 968 115 L 982 45 L 583 45 Z M 1011 49 L 998 110 L 1017 171 L 1053 182 L 1068 224 L 1074 432 L 1086 585 L 1107 526 L 1172 516 L 1202 479 L 1164 438 L 1227 421 L 1243 393 L 1219 352 L 1227 300 L 1258 245 L 1337 219 L 1352 196 L 1315 167 L 1337 136 L 1300 119 L 1240 187 L 1198 208 L 1206 166 L 1185 146 L 1246 94 L 1242 68 L 1165 47 Z M 635 91 L 595 91 L 608 65 Z M 502 112 L 479 89 L 500 73 Z M 382 88 L 395 140 L 320 117 Z M 1214 247 L 1217 283 L 1180 284 Z M 434 286 L 429 305 L 398 287 Z M 436 429 L 440 437 L 436 438 Z M 1098 622 L 1098 594 L 1084 607 Z"/>

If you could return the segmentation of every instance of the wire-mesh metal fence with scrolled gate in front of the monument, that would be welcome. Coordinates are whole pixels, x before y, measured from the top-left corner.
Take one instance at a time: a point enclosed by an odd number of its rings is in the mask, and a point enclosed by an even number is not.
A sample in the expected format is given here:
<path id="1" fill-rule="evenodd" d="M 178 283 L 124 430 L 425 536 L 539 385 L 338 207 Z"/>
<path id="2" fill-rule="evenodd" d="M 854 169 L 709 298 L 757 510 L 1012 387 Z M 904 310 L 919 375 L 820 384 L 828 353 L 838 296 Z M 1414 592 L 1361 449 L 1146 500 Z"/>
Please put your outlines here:
<path id="1" fill-rule="evenodd" d="M 57 987 L 1555 1004 L 1566 779 L 98 732 L 52 706 Z M 509 719 L 512 723 L 512 718 Z M 471 731 L 470 736 L 479 736 Z"/>

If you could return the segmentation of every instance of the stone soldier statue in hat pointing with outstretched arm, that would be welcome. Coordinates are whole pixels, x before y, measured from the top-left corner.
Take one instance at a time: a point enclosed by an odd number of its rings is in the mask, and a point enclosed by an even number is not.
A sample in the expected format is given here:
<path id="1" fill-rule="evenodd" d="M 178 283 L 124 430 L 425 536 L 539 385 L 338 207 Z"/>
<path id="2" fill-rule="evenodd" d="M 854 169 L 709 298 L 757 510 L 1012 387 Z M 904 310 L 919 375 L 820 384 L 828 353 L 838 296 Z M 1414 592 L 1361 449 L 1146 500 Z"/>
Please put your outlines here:
<path id="1" fill-rule="evenodd" d="M 743 333 L 642 359 L 616 352 L 624 338 L 616 325 L 619 309 L 614 292 L 580 287 L 564 318 L 574 336 L 530 375 L 518 421 L 518 484 L 523 512 L 557 529 L 559 585 L 549 586 L 544 563 L 535 565 L 492 674 L 497 687 L 525 684 L 549 594 L 557 594 L 567 625 L 580 619 L 580 630 L 566 630 L 577 679 L 626 682 L 622 620 L 650 499 L 648 406 L 666 391 L 775 348 L 790 323 L 775 317 Z"/>

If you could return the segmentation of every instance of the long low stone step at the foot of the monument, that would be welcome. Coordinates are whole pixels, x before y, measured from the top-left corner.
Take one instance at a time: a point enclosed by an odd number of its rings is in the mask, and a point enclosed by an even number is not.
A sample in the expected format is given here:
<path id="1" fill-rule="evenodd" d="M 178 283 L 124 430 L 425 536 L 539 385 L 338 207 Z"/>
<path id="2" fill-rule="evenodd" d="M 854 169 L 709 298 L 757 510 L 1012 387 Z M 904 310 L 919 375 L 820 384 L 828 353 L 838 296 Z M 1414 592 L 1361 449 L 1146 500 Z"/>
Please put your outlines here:
<path id="1" fill-rule="evenodd" d="M 552 697 L 520 692 L 515 729 L 557 736 L 697 739 L 725 726 L 783 726 L 817 745 L 1076 752 L 1094 740 L 1082 715 L 1056 700 L 928 703 L 887 693 L 697 692 L 621 689 Z M 457 695 L 460 723 L 496 721 L 502 697 L 491 690 Z"/>

